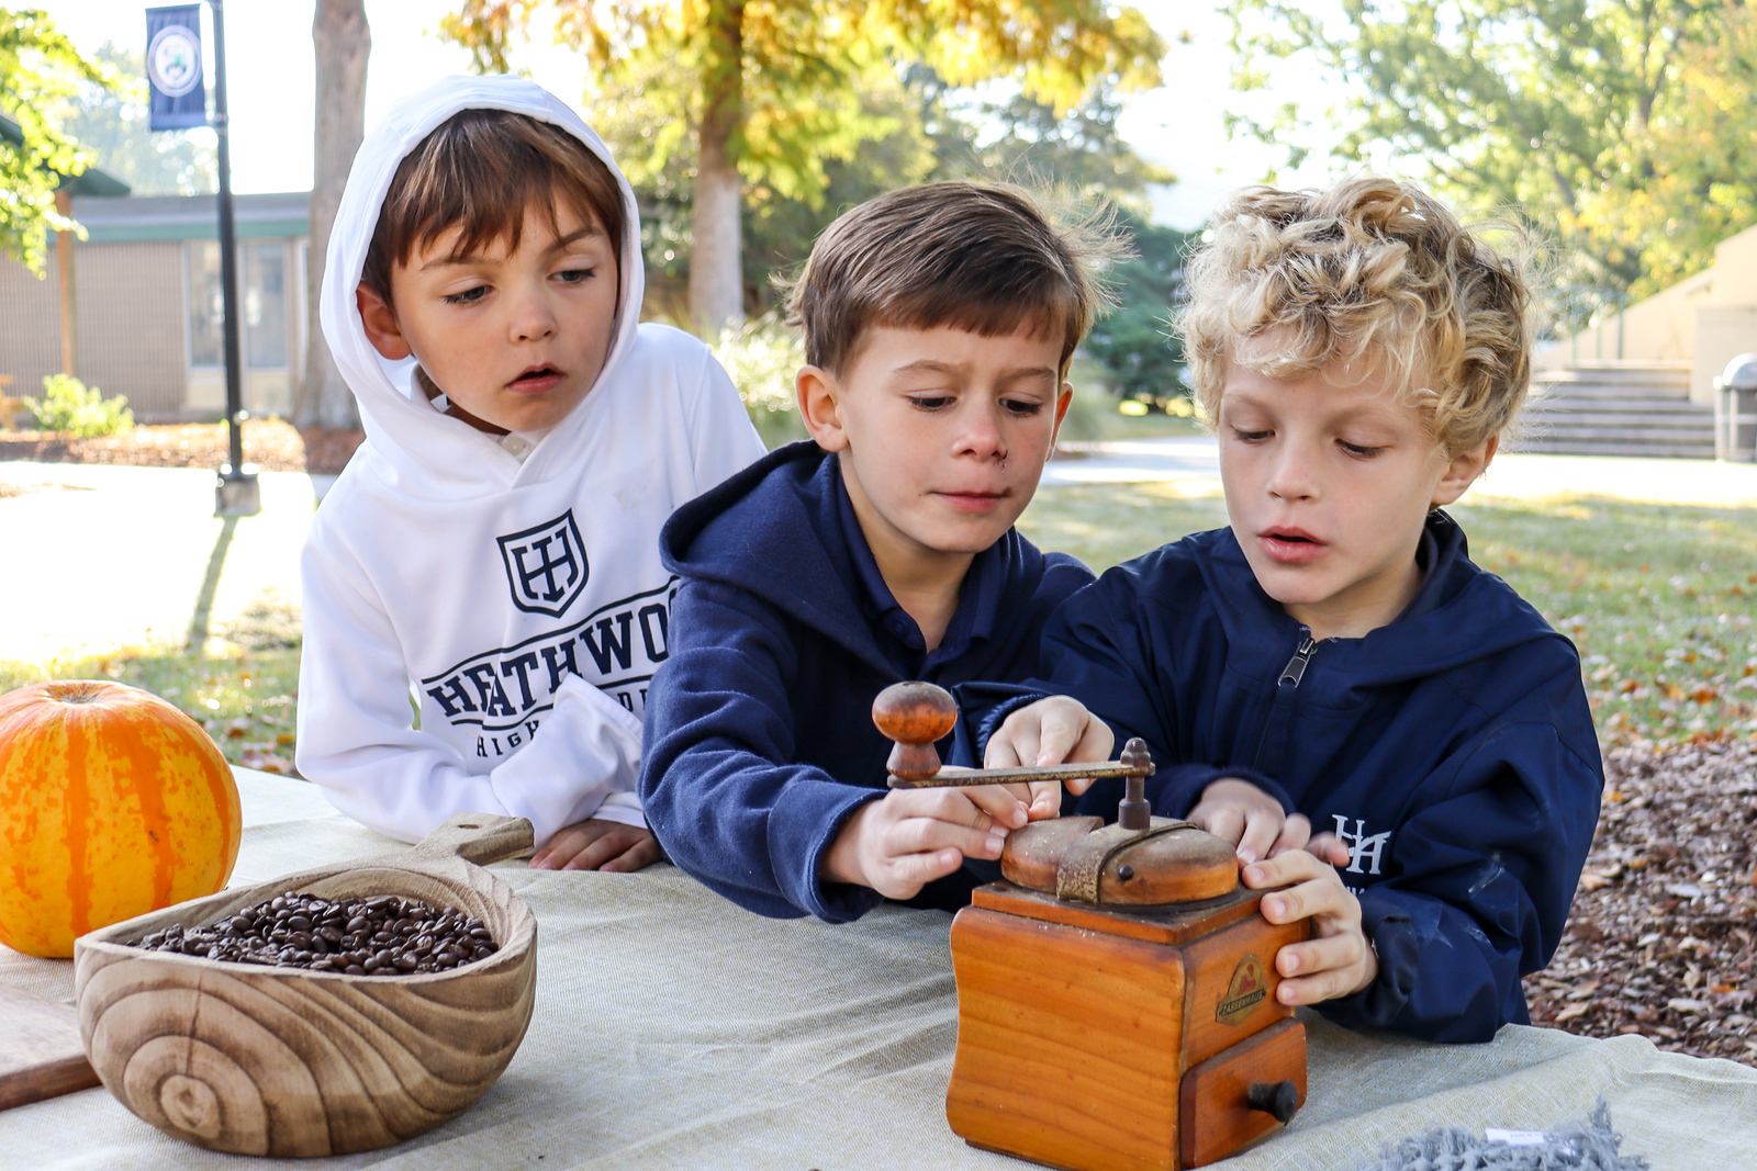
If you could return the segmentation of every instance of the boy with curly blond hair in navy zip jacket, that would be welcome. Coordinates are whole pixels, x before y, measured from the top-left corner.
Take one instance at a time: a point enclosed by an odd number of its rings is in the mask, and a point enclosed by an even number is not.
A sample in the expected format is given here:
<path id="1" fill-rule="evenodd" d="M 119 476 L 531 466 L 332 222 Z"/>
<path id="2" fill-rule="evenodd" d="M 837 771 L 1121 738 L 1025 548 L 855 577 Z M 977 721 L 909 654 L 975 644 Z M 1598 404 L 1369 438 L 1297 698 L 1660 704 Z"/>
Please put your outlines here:
<path id="1" fill-rule="evenodd" d="M 1574 646 L 1439 511 L 1525 397 L 1525 284 L 1381 179 L 1247 190 L 1212 232 L 1184 334 L 1232 527 L 1070 599 L 1038 693 L 1079 704 L 991 706 L 986 762 L 1146 737 L 1156 813 L 1288 887 L 1270 922 L 1314 916 L 1276 957 L 1283 1002 L 1486 1041 L 1529 1020 L 1604 785 Z M 1116 802 L 1095 785 L 1081 811 Z"/>

